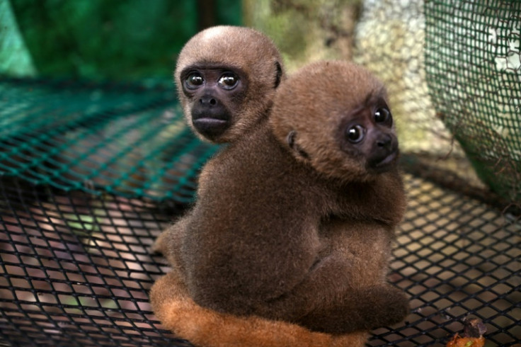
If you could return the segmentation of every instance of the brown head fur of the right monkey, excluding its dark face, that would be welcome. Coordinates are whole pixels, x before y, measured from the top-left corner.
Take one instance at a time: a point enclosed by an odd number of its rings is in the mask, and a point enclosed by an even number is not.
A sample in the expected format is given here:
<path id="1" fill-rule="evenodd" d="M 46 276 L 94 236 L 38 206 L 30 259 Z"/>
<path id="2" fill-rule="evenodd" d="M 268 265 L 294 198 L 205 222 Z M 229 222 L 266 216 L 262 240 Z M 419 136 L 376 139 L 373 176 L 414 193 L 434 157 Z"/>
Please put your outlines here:
<path id="1" fill-rule="evenodd" d="M 338 144 L 353 110 L 371 100 L 387 99 L 384 85 L 351 62 L 314 62 L 282 82 L 274 99 L 270 125 L 295 157 L 321 174 L 348 181 L 368 181 L 364 157 L 350 157 Z M 393 125 L 394 126 L 394 125 Z"/>

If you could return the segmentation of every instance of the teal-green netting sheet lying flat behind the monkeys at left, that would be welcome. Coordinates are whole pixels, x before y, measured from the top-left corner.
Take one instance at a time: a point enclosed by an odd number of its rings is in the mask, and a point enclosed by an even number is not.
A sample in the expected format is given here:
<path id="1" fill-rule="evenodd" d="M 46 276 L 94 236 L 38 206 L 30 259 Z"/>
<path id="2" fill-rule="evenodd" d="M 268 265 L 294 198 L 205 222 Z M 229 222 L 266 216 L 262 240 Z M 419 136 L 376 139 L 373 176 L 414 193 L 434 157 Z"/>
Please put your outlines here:
<path id="1" fill-rule="evenodd" d="M 188 203 L 216 147 L 171 88 L 0 80 L 0 175 L 64 190 Z"/>

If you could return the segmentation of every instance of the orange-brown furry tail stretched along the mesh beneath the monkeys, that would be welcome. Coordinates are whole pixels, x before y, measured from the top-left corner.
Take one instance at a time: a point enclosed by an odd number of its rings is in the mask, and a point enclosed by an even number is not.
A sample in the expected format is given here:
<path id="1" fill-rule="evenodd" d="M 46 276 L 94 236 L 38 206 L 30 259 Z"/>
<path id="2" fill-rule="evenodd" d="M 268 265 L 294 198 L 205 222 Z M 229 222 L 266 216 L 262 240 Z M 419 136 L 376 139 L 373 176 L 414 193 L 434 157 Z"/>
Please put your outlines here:
<path id="1" fill-rule="evenodd" d="M 197 346 L 357 347 L 364 346 L 368 336 L 366 332 L 324 334 L 288 322 L 206 309 L 188 296 L 175 271 L 156 280 L 150 291 L 150 302 L 163 326 Z"/>

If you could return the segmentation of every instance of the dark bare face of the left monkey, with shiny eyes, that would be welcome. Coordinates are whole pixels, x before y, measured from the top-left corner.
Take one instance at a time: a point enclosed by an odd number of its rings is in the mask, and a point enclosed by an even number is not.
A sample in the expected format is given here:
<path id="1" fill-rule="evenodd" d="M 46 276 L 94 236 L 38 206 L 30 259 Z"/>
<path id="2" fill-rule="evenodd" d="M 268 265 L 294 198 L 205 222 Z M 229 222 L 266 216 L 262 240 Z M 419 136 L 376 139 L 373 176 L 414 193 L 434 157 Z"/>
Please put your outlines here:
<path id="1" fill-rule="evenodd" d="M 241 69 L 203 64 L 181 72 L 181 87 L 190 103 L 193 127 L 208 140 L 216 141 L 234 125 L 237 108 L 248 91 L 248 80 Z"/>

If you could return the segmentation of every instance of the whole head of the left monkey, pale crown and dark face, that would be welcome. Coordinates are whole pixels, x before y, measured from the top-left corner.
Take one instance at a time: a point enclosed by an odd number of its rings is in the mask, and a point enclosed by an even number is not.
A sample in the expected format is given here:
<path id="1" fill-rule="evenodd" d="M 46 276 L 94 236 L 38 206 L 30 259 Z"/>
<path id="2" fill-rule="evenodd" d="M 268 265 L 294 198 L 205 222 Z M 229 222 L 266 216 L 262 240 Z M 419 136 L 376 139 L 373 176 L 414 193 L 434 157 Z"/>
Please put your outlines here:
<path id="1" fill-rule="evenodd" d="M 282 57 L 263 33 L 215 26 L 185 44 L 174 75 L 195 133 L 202 140 L 234 142 L 268 115 L 283 77 Z"/>

